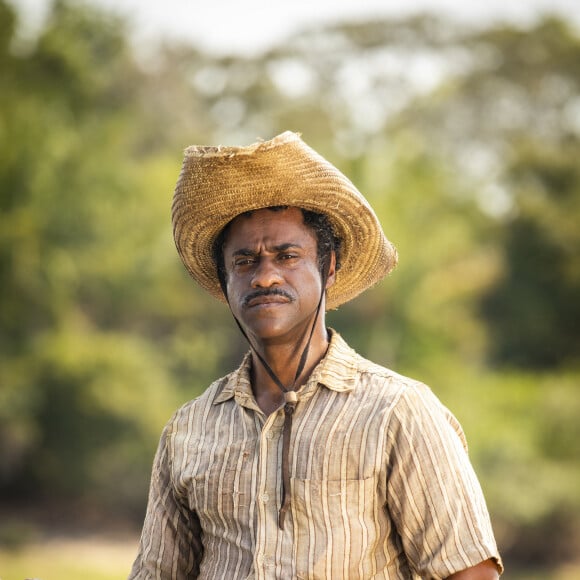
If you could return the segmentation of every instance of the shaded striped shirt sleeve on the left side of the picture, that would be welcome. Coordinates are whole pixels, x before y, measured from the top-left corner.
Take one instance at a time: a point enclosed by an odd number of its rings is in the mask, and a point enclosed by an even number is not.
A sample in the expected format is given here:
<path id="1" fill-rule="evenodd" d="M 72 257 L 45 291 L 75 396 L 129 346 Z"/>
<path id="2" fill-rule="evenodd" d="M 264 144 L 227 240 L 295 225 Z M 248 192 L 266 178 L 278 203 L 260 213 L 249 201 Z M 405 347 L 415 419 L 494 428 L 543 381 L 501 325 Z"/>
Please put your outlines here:
<path id="1" fill-rule="evenodd" d="M 155 455 L 145 523 L 129 580 L 185 580 L 199 575 L 201 527 L 172 481 L 171 432 L 169 423 Z"/>

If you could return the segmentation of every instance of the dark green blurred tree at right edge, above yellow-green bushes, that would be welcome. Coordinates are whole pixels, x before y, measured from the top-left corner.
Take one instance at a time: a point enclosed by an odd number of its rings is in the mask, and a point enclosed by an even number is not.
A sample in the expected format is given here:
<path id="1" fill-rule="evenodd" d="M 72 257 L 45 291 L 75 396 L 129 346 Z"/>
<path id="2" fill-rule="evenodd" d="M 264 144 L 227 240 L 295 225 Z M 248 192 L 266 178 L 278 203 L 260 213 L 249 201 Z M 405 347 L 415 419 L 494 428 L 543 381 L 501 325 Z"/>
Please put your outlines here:
<path id="1" fill-rule="evenodd" d="M 579 156 L 575 137 L 533 142 L 507 168 L 518 212 L 498 232 L 504 273 L 482 302 L 495 362 L 545 369 L 578 359 Z"/>

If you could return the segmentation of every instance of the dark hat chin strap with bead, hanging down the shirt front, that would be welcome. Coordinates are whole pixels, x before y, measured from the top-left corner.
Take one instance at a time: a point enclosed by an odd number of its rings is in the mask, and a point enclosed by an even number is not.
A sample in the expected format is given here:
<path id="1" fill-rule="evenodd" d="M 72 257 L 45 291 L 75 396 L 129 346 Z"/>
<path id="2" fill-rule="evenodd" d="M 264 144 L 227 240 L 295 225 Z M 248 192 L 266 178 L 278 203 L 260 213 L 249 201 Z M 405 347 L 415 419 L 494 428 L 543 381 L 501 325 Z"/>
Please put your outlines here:
<path id="1" fill-rule="evenodd" d="M 278 527 L 283 530 L 284 529 L 284 520 L 286 518 L 286 512 L 290 507 L 290 437 L 292 434 L 292 416 L 294 415 L 294 410 L 296 409 L 296 404 L 298 403 L 298 396 L 296 395 L 296 383 L 304 370 L 304 366 L 306 365 L 306 360 L 308 359 L 308 352 L 310 350 L 310 343 L 312 342 L 312 336 L 314 335 L 314 329 L 316 328 L 316 322 L 318 320 L 318 316 L 320 315 L 320 308 L 322 307 L 322 300 L 324 299 L 324 293 L 326 290 L 326 282 L 328 280 L 328 270 L 329 270 L 329 263 L 328 260 L 325 260 L 322 270 L 321 270 L 321 279 L 322 279 L 322 290 L 320 292 L 320 298 L 318 299 L 318 305 L 316 306 L 316 312 L 314 314 L 314 320 L 312 321 L 312 326 L 310 327 L 310 333 L 308 335 L 308 340 L 306 341 L 306 345 L 302 350 L 302 354 L 300 355 L 300 360 L 298 361 L 298 366 L 296 368 L 296 373 L 294 374 L 294 380 L 289 387 L 286 387 L 282 381 L 278 378 L 276 373 L 272 370 L 272 367 L 266 362 L 264 357 L 260 354 L 260 351 L 256 348 L 256 346 L 250 340 L 250 337 L 243 329 L 240 321 L 234 316 L 234 320 L 240 329 L 240 332 L 243 334 L 244 338 L 248 341 L 250 348 L 256 353 L 258 360 L 262 363 L 265 371 L 268 373 L 270 378 L 274 381 L 277 387 L 282 391 L 284 394 L 284 428 L 282 431 L 282 505 L 280 506 L 280 511 L 278 513 Z M 221 278 L 221 277 L 220 277 Z M 221 280 L 220 280 L 221 282 Z M 224 292 L 224 296 L 229 304 L 229 298 L 227 294 L 227 285 L 222 283 L 222 290 Z M 231 307 L 230 307 L 231 311 Z M 303 335 L 304 336 L 304 335 Z"/>

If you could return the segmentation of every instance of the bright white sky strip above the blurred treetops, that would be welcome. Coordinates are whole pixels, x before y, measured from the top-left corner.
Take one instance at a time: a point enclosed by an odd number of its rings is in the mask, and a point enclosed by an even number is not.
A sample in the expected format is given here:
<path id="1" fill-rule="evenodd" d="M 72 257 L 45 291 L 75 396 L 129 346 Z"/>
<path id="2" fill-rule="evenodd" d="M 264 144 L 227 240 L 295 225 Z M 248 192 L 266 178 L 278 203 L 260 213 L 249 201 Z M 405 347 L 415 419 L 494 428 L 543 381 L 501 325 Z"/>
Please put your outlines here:
<path id="1" fill-rule="evenodd" d="M 51 0 L 9 0 L 37 28 Z M 77 0 L 81 1 L 81 0 Z M 140 41 L 179 38 L 216 53 L 251 54 L 305 27 L 433 11 L 470 23 L 528 23 L 553 12 L 580 27 L 579 0 L 85 0 L 127 17 Z"/>

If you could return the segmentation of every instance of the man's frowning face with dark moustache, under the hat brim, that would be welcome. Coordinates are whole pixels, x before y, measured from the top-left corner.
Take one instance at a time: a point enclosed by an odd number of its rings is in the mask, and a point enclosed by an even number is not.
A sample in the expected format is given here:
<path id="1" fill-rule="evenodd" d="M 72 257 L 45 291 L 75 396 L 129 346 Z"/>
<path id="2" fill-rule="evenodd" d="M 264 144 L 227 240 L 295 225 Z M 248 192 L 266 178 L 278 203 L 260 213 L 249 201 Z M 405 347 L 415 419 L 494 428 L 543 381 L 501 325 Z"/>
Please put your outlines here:
<path id="1" fill-rule="evenodd" d="M 237 217 L 223 252 L 230 308 L 245 331 L 268 342 L 298 341 L 322 292 L 316 234 L 301 210 Z M 326 287 L 333 282 L 334 256 Z"/>

